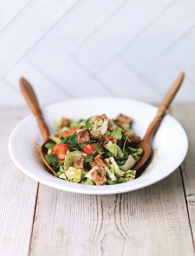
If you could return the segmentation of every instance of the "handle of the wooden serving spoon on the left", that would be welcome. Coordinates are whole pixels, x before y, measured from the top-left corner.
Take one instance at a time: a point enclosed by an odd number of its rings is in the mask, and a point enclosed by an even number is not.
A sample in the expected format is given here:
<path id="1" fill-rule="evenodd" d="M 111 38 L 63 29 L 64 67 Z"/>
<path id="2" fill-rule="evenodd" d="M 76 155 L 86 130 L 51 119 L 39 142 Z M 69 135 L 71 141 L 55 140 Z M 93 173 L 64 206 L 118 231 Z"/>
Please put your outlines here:
<path id="1" fill-rule="evenodd" d="M 33 112 L 34 116 L 37 118 L 39 130 L 42 134 L 44 141 L 47 141 L 49 138 L 49 129 L 42 117 L 39 103 L 32 86 L 26 79 L 20 78 L 20 89 L 24 98 L 26 99 L 29 108 Z"/>

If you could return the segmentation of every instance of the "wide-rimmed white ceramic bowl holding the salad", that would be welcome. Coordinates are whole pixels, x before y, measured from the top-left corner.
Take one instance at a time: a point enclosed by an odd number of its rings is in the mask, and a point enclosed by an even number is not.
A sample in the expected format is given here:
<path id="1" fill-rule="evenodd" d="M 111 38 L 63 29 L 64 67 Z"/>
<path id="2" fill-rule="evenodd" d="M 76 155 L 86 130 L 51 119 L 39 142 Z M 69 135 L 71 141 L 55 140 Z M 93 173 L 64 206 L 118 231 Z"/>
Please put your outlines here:
<path id="1" fill-rule="evenodd" d="M 80 119 L 104 113 L 108 118 L 116 118 L 122 113 L 133 118 L 133 129 L 137 135 L 143 137 L 148 125 L 156 116 L 157 108 L 125 98 L 82 98 L 51 104 L 43 108 L 42 112 L 51 134 L 55 134 L 53 118 Z M 10 156 L 23 173 L 57 189 L 93 195 L 123 193 L 154 184 L 176 170 L 184 160 L 188 148 L 184 129 L 175 118 L 166 114 L 152 140 L 153 157 L 144 175 L 126 183 L 90 186 L 65 181 L 46 171 L 36 156 L 34 142 L 41 145 L 43 139 L 36 119 L 31 114 L 20 121 L 9 138 Z"/>

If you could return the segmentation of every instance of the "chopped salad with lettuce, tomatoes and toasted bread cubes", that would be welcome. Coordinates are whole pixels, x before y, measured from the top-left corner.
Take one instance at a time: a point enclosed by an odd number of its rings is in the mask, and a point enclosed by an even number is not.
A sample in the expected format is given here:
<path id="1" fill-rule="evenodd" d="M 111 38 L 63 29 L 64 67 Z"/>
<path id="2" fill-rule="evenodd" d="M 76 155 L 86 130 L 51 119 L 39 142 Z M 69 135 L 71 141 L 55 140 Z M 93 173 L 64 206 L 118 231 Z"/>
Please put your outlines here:
<path id="1" fill-rule="evenodd" d="M 131 129 L 132 118 L 105 114 L 80 119 L 54 119 L 53 143 L 46 143 L 48 164 L 54 175 L 87 185 L 112 185 L 135 179 L 133 167 L 140 161 L 140 137 Z"/>

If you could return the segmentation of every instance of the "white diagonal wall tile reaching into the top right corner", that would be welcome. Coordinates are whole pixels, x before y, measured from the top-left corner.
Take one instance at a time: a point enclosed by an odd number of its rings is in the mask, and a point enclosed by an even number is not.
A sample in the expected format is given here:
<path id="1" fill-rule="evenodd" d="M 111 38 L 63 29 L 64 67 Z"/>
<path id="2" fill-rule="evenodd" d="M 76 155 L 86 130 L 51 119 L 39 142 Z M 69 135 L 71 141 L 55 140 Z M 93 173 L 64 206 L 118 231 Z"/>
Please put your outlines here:
<path id="1" fill-rule="evenodd" d="M 194 23 L 195 1 L 177 0 L 129 45 L 122 57 L 137 71 L 142 71 Z"/>

